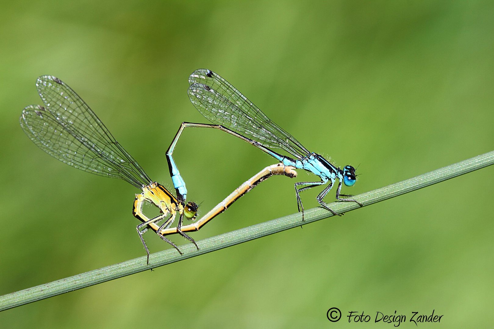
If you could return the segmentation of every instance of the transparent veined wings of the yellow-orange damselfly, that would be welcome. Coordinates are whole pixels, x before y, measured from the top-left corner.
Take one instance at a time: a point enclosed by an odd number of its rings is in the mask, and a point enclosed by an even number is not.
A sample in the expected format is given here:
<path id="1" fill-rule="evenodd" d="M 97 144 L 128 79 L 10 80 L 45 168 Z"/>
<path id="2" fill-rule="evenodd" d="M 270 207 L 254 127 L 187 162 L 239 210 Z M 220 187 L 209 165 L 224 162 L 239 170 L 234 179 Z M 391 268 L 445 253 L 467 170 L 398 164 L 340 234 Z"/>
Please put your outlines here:
<path id="1" fill-rule="evenodd" d="M 45 106 L 26 107 L 20 124 L 37 146 L 60 161 L 95 175 L 120 178 L 138 188 L 151 183 L 139 164 L 69 86 L 49 75 L 40 76 L 36 86 Z"/>

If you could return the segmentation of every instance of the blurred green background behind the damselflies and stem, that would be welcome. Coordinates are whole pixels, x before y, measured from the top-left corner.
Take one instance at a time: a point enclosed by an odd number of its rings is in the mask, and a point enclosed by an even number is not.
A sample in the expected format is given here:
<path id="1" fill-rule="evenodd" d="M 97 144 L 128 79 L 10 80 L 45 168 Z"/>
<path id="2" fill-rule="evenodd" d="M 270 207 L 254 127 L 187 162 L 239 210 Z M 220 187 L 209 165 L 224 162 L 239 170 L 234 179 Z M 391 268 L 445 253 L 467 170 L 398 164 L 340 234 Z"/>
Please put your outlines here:
<path id="1" fill-rule="evenodd" d="M 358 194 L 493 150 L 493 10 L 485 1 L 3 3 L 0 294 L 145 254 L 131 214 L 138 190 L 56 161 L 19 127 L 21 110 L 41 103 L 39 75 L 76 90 L 171 188 L 169 142 L 181 121 L 205 122 L 187 77 L 211 69 L 310 150 L 359 166 L 357 184 L 343 188 Z M 203 214 L 273 163 L 212 130 L 186 131 L 175 160 Z M 8 310 L 0 327 L 361 328 L 370 324 L 348 324 L 348 311 L 433 309 L 444 314 L 433 328 L 492 327 L 493 173 Z M 293 183 L 260 184 L 193 237 L 294 213 Z M 306 208 L 318 192 L 302 195 Z M 343 313 L 337 324 L 330 307 Z"/>

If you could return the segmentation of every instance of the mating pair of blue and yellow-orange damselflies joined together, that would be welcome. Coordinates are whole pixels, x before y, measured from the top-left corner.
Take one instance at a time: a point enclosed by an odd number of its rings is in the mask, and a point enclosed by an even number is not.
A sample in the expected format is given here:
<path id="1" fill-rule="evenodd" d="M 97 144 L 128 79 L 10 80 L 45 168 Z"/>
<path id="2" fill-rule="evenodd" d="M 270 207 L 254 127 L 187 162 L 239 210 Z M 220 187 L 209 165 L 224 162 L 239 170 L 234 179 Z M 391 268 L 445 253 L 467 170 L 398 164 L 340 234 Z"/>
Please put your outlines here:
<path id="1" fill-rule="evenodd" d="M 197 243 L 185 232 L 199 230 L 206 222 L 222 213 L 233 202 L 247 193 L 256 184 L 273 175 L 296 176 L 294 168 L 308 170 L 321 178 L 321 182 L 295 183 L 297 206 L 302 210 L 299 192 L 307 188 L 329 183 L 318 195 L 318 202 L 329 209 L 323 201 L 335 180 L 339 180 L 336 199 L 342 199 L 341 183 L 351 186 L 355 183 L 355 169 L 345 166 L 342 170 L 331 165 L 329 161 L 316 153 L 310 153 L 291 135 L 257 109 L 248 99 L 226 80 L 209 70 L 197 70 L 189 78 L 189 97 L 194 106 L 211 122 L 217 125 L 183 122 L 166 157 L 176 197 L 162 184 L 149 178 L 135 159 L 115 140 L 110 131 L 87 106 L 87 104 L 60 79 L 40 76 L 36 82 L 43 106 L 26 107 L 20 117 L 21 127 L 26 135 L 43 151 L 75 168 L 99 176 L 120 178 L 142 190 L 136 194 L 132 213 L 141 223 L 137 225 L 137 233 L 147 253 L 149 249 L 143 238 L 148 229 L 173 246 L 180 254 L 180 249 L 166 235 L 178 233 L 184 238 Z M 186 127 L 217 128 L 237 136 L 248 143 L 262 149 L 275 157 L 280 163 L 268 166 L 258 174 L 235 189 L 227 198 L 209 211 L 204 217 L 193 224 L 183 225 L 183 218 L 195 220 L 198 205 L 187 202 L 187 189 L 178 168 L 173 160 L 172 152 L 178 139 Z M 296 159 L 283 156 L 271 148 L 281 148 L 295 156 Z M 303 186 L 303 187 L 299 187 Z M 161 215 L 148 218 L 142 212 L 144 202 L 154 204 Z M 358 203 L 358 202 L 357 202 Z M 360 203 L 359 203 L 360 205 Z M 178 215 L 177 226 L 171 228 Z"/>

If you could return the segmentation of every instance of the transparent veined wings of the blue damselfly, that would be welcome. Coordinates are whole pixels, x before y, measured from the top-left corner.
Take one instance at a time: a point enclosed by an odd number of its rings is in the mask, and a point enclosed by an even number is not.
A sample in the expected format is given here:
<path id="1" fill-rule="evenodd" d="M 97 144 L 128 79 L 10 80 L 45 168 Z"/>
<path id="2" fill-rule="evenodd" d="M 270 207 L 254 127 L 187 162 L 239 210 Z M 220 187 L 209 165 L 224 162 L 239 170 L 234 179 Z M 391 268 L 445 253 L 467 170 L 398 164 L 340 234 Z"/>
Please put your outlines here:
<path id="1" fill-rule="evenodd" d="M 200 69 L 189 76 L 189 98 L 201 114 L 261 145 L 297 158 L 310 152 L 218 74 Z"/>

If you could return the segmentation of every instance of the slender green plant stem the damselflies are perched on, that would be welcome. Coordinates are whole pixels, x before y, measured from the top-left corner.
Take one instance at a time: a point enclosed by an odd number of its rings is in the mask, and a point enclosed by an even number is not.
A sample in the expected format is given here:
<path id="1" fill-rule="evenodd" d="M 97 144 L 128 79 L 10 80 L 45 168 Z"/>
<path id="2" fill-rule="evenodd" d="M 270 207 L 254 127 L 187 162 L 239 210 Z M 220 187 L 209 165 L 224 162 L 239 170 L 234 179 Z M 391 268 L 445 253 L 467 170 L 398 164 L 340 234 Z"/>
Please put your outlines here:
<path id="1" fill-rule="evenodd" d="M 370 192 L 356 195 L 354 198 L 364 204 L 364 206 L 368 206 L 379 201 L 390 199 L 397 195 L 402 195 L 422 187 L 443 182 L 450 178 L 487 167 L 493 163 L 494 151 L 413 177 L 402 182 L 394 183 L 377 188 Z M 330 205 L 330 208 L 337 213 L 343 213 L 360 208 L 360 206 L 354 202 L 334 202 Z M 285 216 L 279 219 L 273 219 L 198 241 L 198 245 L 201 248 L 200 250 L 197 250 L 194 245 L 190 243 L 183 245 L 180 247 L 183 251 L 183 255 L 178 254 L 175 249 L 168 249 L 155 253 L 151 255 L 150 265 L 146 265 L 146 257 L 143 256 L 40 286 L 21 290 L 19 292 L 8 293 L 0 296 L 0 311 L 55 296 L 64 292 L 70 292 L 98 283 L 121 278 L 129 274 L 149 270 L 151 268 L 182 259 L 206 254 L 218 249 L 230 247 L 242 242 L 260 238 L 262 236 L 300 226 L 301 224 L 305 225 L 316 220 L 329 218 L 331 216 L 333 215 L 323 208 L 313 208 L 305 211 L 304 222 L 302 222 L 302 216 L 300 213 Z"/>

